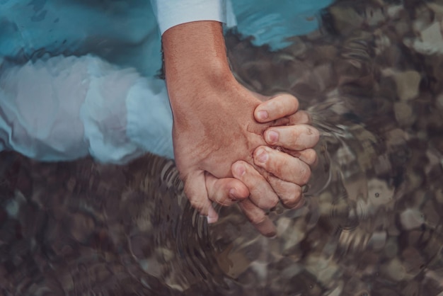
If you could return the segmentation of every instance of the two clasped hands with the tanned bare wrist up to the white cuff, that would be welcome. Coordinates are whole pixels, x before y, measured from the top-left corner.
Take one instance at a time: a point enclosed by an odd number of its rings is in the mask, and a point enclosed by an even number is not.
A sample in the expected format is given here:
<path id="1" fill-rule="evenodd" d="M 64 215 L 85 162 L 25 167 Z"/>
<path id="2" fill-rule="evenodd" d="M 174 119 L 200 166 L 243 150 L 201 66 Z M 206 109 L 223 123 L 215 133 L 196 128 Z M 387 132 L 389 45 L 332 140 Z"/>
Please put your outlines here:
<path id="1" fill-rule="evenodd" d="M 163 51 L 174 154 L 190 203 L 215 222 L 212 202 L 240 201 L 255 227 L 274 236 L 265 210 L 279 200 L 287 207 L 299 205 L 300 186 L 316 161 L 311 148 L 318 131 L 306 125 L 308 117 L 297 112 L 294 97 L 280 95 L 262 103 L 238 84 L 220 23 L 170 28 L 163 34 Z"/>

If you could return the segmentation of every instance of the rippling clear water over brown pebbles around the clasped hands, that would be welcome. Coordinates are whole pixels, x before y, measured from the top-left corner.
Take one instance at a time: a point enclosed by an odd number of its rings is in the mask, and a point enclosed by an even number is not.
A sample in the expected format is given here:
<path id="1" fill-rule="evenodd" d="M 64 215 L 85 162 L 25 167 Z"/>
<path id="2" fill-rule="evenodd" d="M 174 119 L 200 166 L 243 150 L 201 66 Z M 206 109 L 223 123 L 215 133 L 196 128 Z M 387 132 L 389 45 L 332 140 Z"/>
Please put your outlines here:
<path id="1" fill-rule="evenodd" d="M 402 3 L 338 1 L 280 52 L 228 36 L 238 79 L 294 93 L 323 134 L 276 239 L 236 207 L 208 227 L 171 161 L 2 153 L 0 294 L 443 295 L 443 5 Z"/>

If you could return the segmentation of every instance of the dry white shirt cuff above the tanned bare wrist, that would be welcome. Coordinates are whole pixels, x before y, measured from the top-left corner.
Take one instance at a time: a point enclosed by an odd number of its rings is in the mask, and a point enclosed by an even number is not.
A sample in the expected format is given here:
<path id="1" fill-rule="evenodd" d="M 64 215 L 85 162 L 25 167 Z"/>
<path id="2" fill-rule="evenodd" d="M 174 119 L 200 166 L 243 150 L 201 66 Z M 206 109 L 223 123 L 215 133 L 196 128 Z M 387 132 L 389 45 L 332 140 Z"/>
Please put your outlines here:
<path id="1" fill-rule="evenodd" d="M 227 0 L 151 0 L 163 35 L 168 28 L 192 21 L 226 23 Z"/>

